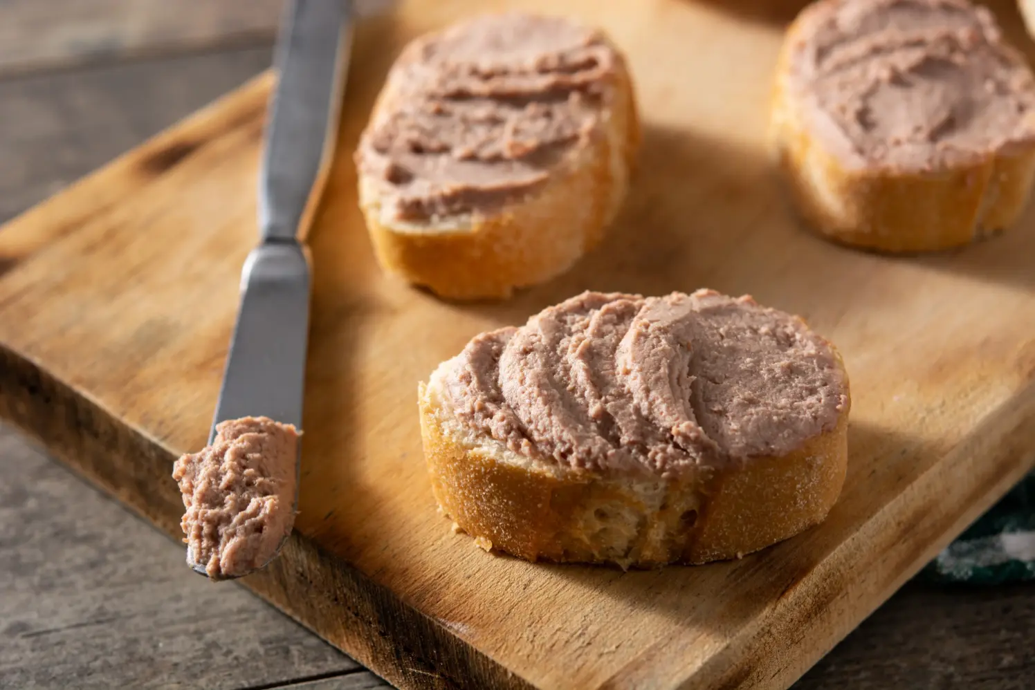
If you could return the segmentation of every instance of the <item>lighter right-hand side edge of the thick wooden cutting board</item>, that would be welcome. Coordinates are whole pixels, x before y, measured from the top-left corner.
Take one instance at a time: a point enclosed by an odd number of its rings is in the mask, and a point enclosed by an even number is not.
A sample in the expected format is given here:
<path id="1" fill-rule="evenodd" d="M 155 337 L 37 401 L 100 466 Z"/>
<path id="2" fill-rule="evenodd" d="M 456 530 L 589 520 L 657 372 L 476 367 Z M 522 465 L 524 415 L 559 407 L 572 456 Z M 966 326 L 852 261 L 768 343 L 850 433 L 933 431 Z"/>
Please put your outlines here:
<path id="1" fill-rule="evenodd" d="M 727 650 L 712 655 L 680 687 L 722 690 L 791 687 L 1033 470 L 1035 380 L 1029 380 L 854 534 L 834 546 L 817 567 L 791 582 L 775 606 L 742 628 Z M 939 490 L 943 484 L 938 476 L 946 472 L 970 472 L 971 479 L 977 478 L 977 481 L 956 482 L 960 487 L 957 492 L 966 498 L 953 501 L 957 498 L 955 492 Z M 922 501 L 915 496 L 936 491 L 946 500 Z M 933 505 L 938 509 L 931 510 Z M 888 522 L 899 527 L 883 529 Z M 880 546 L 881 542 L 887 545 L 887 550 L 880 551 L 881 568 L 867 571 L 858 579 L 845 580 L 853 582 L 854 592 L 829 586 L 831 581 L 837 582 L 839 573 L 858 572 L 864 567 L 866 552 L 875 550 L 873 546 Z M 889 560 L 893 567 L 887 566 Z M 851 605 L 838 602 L 850 594 L 854 597 Z M 809 619 L 809 612 L 818 609 L 821 614 Z M 797 656 L 790 653 L 792 646 L 775 649 L 762 639 L 781 634 L 774 632 L 778 626 L 782 626 L 785 635 L 804 630 L 793 643 Z M 802 654 L 801 650 L 806 649 L 809 652 Z"/>

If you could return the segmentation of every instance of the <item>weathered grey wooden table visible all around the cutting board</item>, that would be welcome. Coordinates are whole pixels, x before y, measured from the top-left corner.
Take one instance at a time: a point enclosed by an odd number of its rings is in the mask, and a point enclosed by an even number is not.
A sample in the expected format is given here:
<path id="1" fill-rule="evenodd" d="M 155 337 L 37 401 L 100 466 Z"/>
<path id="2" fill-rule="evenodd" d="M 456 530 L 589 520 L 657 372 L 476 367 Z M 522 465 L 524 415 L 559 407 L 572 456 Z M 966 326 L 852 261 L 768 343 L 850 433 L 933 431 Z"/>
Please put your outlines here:
<path id="1" fill-rule="evenodd" d="M 0 1 L 0 221 L 268 66 L 279 0 Z M 0 687 L 384 683 L 0 426 Z M 795 688 L 1030 688 L 1035 587 L 909 584 Z"/>

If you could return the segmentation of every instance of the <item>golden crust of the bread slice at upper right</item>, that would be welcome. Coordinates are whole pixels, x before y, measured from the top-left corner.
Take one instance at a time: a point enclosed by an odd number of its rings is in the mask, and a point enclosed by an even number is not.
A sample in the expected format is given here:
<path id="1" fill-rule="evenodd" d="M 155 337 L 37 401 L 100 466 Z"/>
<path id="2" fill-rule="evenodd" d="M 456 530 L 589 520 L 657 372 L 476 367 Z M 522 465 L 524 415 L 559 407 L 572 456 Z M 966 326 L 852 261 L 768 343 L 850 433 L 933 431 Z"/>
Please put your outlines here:
<path id="1" fill-rule="evenodd" d="M 800 34 L 799 17 L 777 61 L 769 137 L 791 199 L 812 229 L 866 249 L 921 252 L 970 244 L 1017 220 L 1035 178 L 1035 146 L 931 172 L 841 164 L 789 92 L 791 49 Z"/>

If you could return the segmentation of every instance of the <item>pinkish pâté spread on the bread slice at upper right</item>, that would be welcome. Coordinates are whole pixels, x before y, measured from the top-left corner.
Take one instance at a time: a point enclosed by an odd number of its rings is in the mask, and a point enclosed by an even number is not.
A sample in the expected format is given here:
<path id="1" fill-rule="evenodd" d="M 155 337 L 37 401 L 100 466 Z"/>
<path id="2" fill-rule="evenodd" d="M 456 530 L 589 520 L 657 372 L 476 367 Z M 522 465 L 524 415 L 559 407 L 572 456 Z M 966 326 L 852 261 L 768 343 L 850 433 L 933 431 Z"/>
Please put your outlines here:
<path id="1" fill-rule="evenodd" d="M 824 0 L 790 47 L 809 131 L 855 167 L 939 170 L 1035 142 L 1035 79 L 967 0 Z"/>

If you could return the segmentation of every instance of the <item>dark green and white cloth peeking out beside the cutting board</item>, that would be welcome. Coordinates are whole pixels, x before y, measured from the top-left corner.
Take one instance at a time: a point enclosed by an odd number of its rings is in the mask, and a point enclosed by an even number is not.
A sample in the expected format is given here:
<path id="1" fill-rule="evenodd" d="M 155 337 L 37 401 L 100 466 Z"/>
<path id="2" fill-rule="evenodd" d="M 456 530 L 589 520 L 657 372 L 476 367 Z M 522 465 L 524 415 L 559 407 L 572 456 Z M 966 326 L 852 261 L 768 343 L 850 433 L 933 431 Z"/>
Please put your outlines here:
<path id="1" fill-rule="evenodd" d="M 920 578 L 974 584 L 1035 580 L 1035 472 L 939 553 Z"/>

